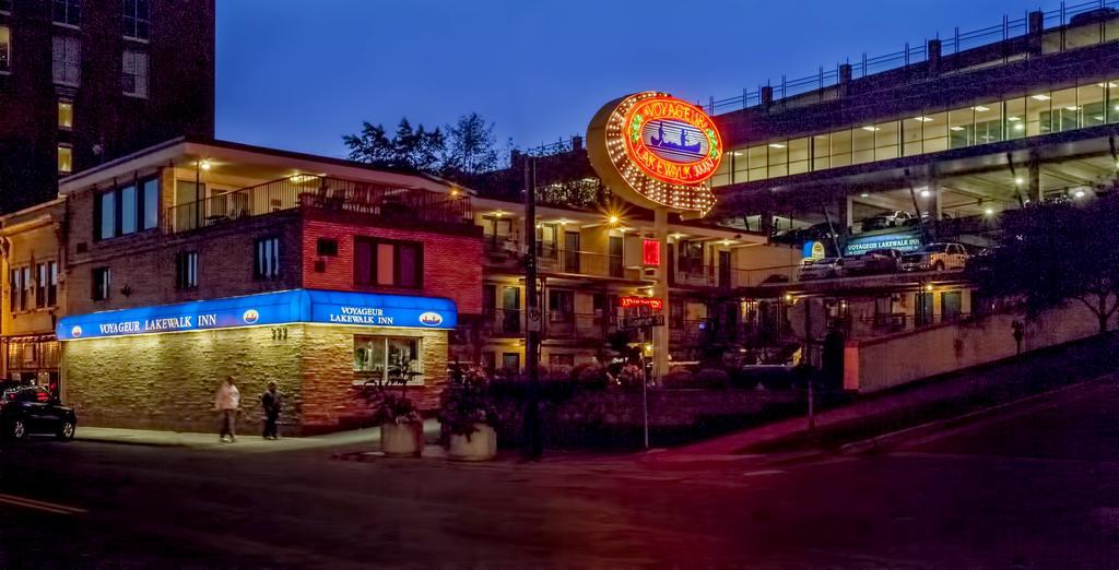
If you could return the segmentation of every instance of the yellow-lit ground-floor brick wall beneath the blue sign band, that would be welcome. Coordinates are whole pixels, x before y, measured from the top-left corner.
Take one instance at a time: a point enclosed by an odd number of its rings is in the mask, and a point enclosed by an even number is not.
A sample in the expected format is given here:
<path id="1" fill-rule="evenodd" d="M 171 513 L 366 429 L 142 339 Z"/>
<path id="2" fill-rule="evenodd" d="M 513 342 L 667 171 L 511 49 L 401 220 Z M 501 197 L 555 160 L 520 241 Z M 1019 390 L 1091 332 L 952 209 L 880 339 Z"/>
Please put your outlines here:
<path id="1" fill-rule="evenodd" d="M 64 343 L 63 399 L 83 425 L 216 430 L 214 393 L 226 374 L 238 378 L 241 431 L 262 425 L 258 396 L 269 381 L 284 395 L 288 435 L 356 425 L 368 410 L 356 399 L 354 335 L 421 339 L 423 386 L 408 395 L 426 410 L 446 383 L 446 332 L 367 326 L 289 325 L 145 334 Z M 278 327 L 279 329 L 279 327 Z"/>

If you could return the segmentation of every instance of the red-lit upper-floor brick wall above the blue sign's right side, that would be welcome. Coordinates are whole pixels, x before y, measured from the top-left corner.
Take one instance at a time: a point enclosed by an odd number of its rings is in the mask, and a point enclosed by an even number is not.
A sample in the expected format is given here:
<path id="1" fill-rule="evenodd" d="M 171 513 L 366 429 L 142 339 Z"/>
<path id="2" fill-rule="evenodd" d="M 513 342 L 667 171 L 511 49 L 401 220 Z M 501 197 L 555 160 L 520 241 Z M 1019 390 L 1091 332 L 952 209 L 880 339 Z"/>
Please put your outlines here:
<path id="1" fill-rule="evenodd" d="M 421 241 L 423 244 L 423 288 L 416 291 L 355 286 L 355 236 Z M 338 256 L 318 256 L 319 238 L 337 239 Z M 446 297 L 458 304 L 459 313 L 480 314 L 482 312 L 482 240 L 477 232 L 419 231 L 304 218 L 302 247 L 304 287 Z M 323 273 L 316 273 L 316 259 L 326 263 Z"/>

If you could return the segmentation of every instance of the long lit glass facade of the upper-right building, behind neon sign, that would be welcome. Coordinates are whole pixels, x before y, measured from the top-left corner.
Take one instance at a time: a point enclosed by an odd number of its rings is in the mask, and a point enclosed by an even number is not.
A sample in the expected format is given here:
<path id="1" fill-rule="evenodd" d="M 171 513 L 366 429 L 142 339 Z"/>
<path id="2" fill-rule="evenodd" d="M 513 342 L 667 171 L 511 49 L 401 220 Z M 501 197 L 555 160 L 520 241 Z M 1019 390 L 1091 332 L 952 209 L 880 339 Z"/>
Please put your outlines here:
<path id="1" fill-rule="evenodd" d="M 1119 78 L 731 149 L 712 186 L 1119 123 Z"/>

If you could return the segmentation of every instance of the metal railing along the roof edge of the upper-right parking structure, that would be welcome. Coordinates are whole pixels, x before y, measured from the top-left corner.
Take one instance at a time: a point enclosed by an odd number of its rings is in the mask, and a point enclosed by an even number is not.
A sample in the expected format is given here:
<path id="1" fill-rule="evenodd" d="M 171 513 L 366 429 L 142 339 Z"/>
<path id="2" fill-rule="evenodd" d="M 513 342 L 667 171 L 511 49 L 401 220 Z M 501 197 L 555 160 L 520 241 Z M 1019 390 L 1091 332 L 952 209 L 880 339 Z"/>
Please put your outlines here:
<path id="1" fill-rule="evenodd" d="M 1043 12 L 1043 30 L 1052 30 L 1053 28 L 1066 26 L 1079 15 L 1088 13 L 1094 10 L 1116 8 L 1119 8 L 1119 0 L 1091 0 L 1071 6 L 1066 6 L 1065 2 L 1061 2 L 1060 8 Z M 1091 22 L 1084 26 L 1099 26 L 1099 22 Z M 976 47 L 994 44 L 996 41 L 1024 37 L 1028 35 L 1028 31 L 1029 15 L 1026 13 L 1022 18 L 1009 18 L 1004 16 L 1000 25 L 988 28 L 971 31 L 960 31 L 959 28 L 956 28 L 953 34 L 949 37 L 940 38 L 940 35 L 938 34 L 937 39 L 940 39 L 941 42 L 941 56 L 949 56 Z M 1100 27 L 1098 40 L 1094 42 L 1090 41 L 1089 38 L 1085 41 L 1075 41 L 1073 45 L 1070 45 L 1065 41 L 1065 31 L 1066 30 L 1059 31 L 1059 37 L 1055 38 L 1055 41 L 1046 41 L 1043 53 L 1078 49 L 1088 45 L 1097 45 L 1109 41 L 1109 34 L 1104 31 L 1103 27 Z M 850 66 L 850 78 L 863 78 L 873 74 L 900 69 L 913 64 L 927 61 L 929 57 L 927 45 L 928 42 L 922 42 L 918 46 L 911 46 L 906 42 L 902 50 L 893 54 L 867 57 L 864 53 L 862 57 L 855 61 L 850 61 L 848 58 L 846 65 Z M 806 93 L 817 91 L 822 92 L 827 87 L 836 87 L 840 84 L 840 67 L 841 65 L 837 65 L 835 68 L 825 69 L 821 66 L 816 75 L 797 79 L 788 79 L 782 75 L 781 83 L 779 84 L 770 83 L 765 86 L 758 87 L 756 91 L 744 88 L 739 95 L 721 99 L 716 99 L 712 96 L 706 103 L 697 101 L 696 104 L 706 108 L 709 114 L 714 115 L 761 105 L 762 93 L 764 89 L 772 89 L 773 102 L 787 99 Z"/>

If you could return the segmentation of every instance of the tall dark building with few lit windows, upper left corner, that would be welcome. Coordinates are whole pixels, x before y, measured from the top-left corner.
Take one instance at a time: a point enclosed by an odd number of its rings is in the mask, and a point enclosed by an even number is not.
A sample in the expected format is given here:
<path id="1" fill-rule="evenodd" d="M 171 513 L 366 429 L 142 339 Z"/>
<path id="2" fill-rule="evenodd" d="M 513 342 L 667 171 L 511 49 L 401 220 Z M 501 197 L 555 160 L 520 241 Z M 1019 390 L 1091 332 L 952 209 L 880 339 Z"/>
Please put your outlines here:
<path id="1" fill-rule="evenodd" d="M 60 175 L 214 136 L 214 0 L 0 0 L 0 211 Z"/>

